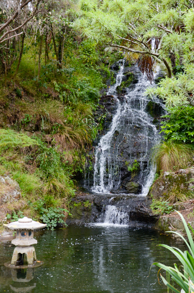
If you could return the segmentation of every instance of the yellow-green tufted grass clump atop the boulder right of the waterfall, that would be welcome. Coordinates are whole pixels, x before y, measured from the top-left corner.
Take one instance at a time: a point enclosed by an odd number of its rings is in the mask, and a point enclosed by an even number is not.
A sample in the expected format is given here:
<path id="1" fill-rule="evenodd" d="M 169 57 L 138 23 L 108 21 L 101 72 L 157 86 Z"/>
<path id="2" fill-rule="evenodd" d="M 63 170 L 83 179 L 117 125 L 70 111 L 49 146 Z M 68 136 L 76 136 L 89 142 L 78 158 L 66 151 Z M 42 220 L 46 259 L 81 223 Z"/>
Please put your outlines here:
<path id="1" fill-rule="evenodd" d="M 177 171 L 188 167 L 193 161 L 194 146 L 185 145 L 172 140 L 160 143 L 153 148 L 152 159 L 157 167 L 157 172 Z"/>

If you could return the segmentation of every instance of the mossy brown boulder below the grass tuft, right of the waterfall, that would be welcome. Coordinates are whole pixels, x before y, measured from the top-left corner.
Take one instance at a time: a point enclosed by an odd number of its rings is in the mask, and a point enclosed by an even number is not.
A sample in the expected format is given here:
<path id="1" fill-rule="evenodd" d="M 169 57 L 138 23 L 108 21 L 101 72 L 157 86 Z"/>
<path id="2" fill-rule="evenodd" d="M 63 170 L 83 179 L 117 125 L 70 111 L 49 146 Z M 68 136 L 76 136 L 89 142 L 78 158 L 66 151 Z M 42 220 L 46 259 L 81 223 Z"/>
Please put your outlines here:
<path id="1" fill-rule="evenodd" d="M 164 172 L 152 185 L 149 195 L 157 199 L 168 200 L 170 196 L 193 191 L 194 187 L 194 167 L 180 169 L 177 172 Z"/>

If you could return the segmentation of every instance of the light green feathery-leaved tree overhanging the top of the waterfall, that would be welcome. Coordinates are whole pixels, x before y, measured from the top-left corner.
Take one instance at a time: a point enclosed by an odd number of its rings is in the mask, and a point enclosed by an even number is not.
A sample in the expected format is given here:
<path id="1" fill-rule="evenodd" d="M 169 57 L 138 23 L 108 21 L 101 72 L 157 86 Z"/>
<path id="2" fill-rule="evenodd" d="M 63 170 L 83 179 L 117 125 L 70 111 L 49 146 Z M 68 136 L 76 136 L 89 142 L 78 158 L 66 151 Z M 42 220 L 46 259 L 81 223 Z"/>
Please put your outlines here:
<path id="1" fill-rule="evenodd" d="M 70 13 L 83 37 L 138 54 L 150 79 L 154 63 L 165 65 L 168 77 L 149 95 L 194 105 L 193 0 L 80 0 Z"/>

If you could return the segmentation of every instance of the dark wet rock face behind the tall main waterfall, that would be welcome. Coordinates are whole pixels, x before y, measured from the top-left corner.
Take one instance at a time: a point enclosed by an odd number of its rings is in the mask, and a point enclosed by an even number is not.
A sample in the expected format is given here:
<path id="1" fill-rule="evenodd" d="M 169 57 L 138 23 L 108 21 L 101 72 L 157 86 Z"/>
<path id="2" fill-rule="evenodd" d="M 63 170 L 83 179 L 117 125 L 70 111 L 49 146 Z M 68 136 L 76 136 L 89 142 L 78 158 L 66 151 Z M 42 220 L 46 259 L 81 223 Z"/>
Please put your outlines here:
<path id="1" fill-rule="evenodd" d="M 116 77 L 120 66 L 121 62 L 110 67 L 114 77 Z M 108 86 L 110 87 L 113 84 L 115 84 L 115 81 Z M 148 83 L 139 68 L 136 65 L 129 66 L 126 63 L 122 82 L 116 88 L 119 102 L 113 95 L 102 95 L 99 107 L 95 112 L 95 121 L 101 131 L 93 142 L 93 148 L 86 166 L 86 177 L 80 181 L 80 186 L 85 186 L 91 191 L 94 179 L 95 186 L 99 186 L 100 178 L 102 178 L 100 162 L 104 162 L 103 180 L 104 186 L 108 186 L 106 188 L 108 191 L 111 193 L 135 194 L 142 192 L 142 187 L 145 186 L 150 172 L 150 149 L 157 140 L 160 115 L 164 114 L 163 105 L 159 99 L 156 98 L 150 103 L 148 99 L 144 98 L 147 86 Z M 147 104 L 148 107 L 146 107 Z M 110 130 L 112 118 L 117 113 L 118 105 L 121 107 L 120 115 L 117 117 L 118 124 L 115 123 L 116 126 L 109 139 L 109 146 L 104 148 L 102 159 L 100 154 L 103 153 L 103 147 L 97 148 L 97 146 L 100 139 Z M 99 151 L 95 158 L 97 150 Z M 95 166 L 96 162 L 97 165 Z M 135 162 L 139 164 L 139 167 L 134 175 L 130 170 Z M 95 176 L 94 167 L 95 174 L 97 174 Z M 134 185 L 131 185 L 130 181 Z"/>

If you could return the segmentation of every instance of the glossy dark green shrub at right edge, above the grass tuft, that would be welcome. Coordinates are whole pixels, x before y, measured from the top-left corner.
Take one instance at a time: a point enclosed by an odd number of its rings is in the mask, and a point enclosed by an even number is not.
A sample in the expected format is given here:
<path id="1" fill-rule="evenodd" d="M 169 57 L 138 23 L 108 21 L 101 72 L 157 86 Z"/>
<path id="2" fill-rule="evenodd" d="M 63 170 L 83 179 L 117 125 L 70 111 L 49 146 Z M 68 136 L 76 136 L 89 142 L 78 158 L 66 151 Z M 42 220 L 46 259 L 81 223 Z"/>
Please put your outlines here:
<path id="1" fill-rule="evenodd" d="M 175 140 L 186 144 L 194 142 L 194 107 L 191 105 L 173 107 L 169 114 L 163 116 L 168 120 L 162 122 L 162 131 L 166 140 Z"/>

